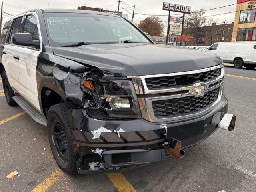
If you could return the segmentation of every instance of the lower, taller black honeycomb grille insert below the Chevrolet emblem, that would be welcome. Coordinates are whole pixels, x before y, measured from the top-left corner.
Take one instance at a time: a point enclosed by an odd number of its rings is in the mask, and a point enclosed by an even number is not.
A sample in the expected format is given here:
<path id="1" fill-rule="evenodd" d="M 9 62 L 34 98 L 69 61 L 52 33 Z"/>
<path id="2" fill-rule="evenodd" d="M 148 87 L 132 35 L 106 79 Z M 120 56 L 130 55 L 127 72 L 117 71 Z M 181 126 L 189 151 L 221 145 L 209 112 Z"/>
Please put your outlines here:
<path id="1" fill-rule="evenodd" d="M 176 115 L 196 112 L 212 105 L 218 98 L 220 88 L 216 88 L 204 94 L 204 96 L 181 97 L 152 102 L 152 108 L 156 118 L 168 118 Z"/>

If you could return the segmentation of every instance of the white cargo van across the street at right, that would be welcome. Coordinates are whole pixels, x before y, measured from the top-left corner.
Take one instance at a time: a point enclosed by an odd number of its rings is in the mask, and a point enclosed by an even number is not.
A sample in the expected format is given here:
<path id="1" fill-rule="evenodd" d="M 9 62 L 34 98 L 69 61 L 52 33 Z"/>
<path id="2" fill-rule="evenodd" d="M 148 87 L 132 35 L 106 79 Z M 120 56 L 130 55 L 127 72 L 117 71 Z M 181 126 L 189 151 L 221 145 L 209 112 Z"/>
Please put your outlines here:
<path id="1" fill-rule="evenodd" d="M 214 43 L 208 51 L 220 56 L 224 62 L 234 63 L 235 68 L 246 66 L 246 68 L 254 70 L 256 67 L 256 43 Z"/>

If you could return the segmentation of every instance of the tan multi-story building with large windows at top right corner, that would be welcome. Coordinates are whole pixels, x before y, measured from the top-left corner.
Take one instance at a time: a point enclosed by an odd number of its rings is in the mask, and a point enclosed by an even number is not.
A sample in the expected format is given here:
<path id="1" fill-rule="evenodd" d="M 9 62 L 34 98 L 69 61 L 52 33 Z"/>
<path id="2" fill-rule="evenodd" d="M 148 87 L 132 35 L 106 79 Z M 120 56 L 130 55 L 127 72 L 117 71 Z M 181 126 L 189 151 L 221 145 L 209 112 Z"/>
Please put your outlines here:
<path id="1" fill-rule="evenodd" d="M 237 0 L 232 42 L 256 42 L 256 0 Z"/>

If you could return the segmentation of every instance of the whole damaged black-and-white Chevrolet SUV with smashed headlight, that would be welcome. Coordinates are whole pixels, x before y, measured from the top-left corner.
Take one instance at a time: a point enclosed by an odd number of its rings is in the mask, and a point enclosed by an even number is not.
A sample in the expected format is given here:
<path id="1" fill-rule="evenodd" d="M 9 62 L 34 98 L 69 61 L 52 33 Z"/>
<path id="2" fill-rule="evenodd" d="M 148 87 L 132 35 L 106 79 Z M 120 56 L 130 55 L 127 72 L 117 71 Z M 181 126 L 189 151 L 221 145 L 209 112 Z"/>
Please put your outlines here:
<path id="1" fill-rule="evenodd" d="M 8 104 L 48 127 L 69 174 L 181 158 L 219 127 L 234 129 L 218 56 L 154 44 L 116 15 L 15 16 L 2 30 L 0 72 Z"/>

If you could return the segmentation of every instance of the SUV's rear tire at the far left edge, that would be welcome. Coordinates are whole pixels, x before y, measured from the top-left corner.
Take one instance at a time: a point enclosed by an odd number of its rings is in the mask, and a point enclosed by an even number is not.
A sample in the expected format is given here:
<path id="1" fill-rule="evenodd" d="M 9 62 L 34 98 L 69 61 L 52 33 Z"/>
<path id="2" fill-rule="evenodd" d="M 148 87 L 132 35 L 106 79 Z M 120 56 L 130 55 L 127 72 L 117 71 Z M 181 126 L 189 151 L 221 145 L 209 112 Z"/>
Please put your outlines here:
<path id="1" fill-rule="evenodd" d="M 10 106 L 16 106 L 18 105 L 14 100 L 13 100 L 13 96 L 15 96 L 14 91 L 12 90 L 12 87 L 9 84 L 6 72 L 3 72 L 2 74 L 2 81 L 3 81 L 3 88 L 4 88 L 4 95 L 6 98 L 6 102 L 8 103 L 8 105 Z"/>

